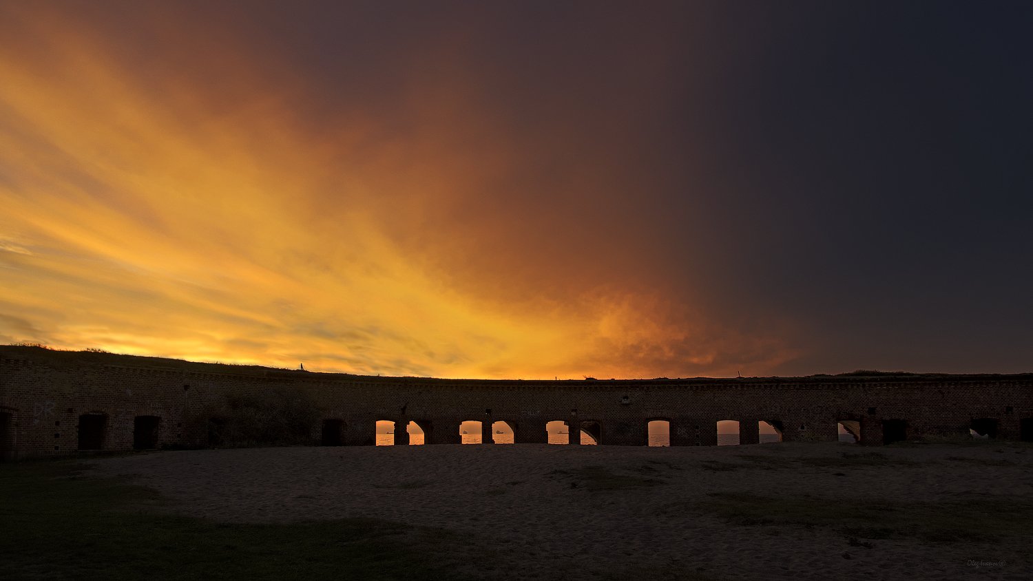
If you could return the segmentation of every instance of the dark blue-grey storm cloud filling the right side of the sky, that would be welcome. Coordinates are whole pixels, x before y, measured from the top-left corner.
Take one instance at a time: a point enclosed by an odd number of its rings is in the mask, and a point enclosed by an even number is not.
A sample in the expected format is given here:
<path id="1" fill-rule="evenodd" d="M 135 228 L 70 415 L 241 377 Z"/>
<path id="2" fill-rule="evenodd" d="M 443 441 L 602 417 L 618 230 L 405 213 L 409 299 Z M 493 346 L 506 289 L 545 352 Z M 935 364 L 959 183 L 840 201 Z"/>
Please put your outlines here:
<path id="1" fill-rule="evenodd" d="M 708 214 L 726 296 L 816 340 L 788 368 L 1028 366 L 1030 17 L 826 4 L 726 63 Z"/>

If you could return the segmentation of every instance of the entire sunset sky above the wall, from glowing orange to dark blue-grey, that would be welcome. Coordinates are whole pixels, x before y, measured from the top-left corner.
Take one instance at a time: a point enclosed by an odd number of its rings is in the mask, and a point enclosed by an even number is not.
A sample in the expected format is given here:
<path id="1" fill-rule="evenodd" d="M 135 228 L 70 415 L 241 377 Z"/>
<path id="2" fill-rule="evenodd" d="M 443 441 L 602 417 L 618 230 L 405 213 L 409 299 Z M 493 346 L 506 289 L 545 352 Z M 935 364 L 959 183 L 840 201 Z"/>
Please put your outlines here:
<path id="1" fill-rule="evenodd" d="M 0 343 L 1033 370 L 1033 3 L 0 0 Z"/>

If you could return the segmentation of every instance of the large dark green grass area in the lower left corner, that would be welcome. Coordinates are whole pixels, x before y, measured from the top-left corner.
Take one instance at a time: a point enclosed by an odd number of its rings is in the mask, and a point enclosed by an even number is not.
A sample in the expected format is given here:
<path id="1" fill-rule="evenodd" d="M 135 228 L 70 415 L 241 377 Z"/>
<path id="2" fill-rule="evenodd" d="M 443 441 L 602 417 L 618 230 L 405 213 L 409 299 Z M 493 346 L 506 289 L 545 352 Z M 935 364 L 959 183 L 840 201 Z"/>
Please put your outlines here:
<path id="1" fill-rule="evenodd" d="M 85 466 L 0 467 L 0 579 L 442 579 L 443 529 L 375 519 L 226 524 L 162 514 L 153 490 Z M 452 563 L 455 566 L 455 563 Z"/>

